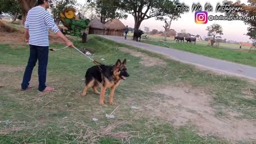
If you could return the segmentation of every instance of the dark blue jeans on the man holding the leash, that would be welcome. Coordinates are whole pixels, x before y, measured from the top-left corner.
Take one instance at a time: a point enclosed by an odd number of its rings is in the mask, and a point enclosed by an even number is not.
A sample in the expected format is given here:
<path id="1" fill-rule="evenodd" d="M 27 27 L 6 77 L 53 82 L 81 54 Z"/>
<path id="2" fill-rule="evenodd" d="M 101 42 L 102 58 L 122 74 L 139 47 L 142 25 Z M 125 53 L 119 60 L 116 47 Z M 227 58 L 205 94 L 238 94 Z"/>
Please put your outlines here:
<path id="1" fill-rule="evenodd" d="M 38 59 L 38 91 L 43 91 L 46 87 L 46 68 L 48 63 L 49 46 L 29 45 L 29 47 L 30 55 L 28 59 L 28 65 L 23 75 L 21 89 L 27 89 L 31 79 L 33 68 L 35 67 L 36 61 Z"/>

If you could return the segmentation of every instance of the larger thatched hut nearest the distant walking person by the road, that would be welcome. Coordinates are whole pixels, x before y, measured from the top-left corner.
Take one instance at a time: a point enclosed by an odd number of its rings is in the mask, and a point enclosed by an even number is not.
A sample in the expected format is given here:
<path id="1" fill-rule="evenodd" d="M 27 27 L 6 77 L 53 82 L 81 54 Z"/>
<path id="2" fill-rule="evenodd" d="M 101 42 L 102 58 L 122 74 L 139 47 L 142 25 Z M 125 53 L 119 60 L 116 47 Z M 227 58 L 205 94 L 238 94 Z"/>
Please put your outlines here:
<path id="1" fill-rule="evenodd" d="M 107 29 L 107 35 L 110 36 L 123 36 L 125 25 L 118 19 L 114 19 L 111 22 L 105 23 Z"/>

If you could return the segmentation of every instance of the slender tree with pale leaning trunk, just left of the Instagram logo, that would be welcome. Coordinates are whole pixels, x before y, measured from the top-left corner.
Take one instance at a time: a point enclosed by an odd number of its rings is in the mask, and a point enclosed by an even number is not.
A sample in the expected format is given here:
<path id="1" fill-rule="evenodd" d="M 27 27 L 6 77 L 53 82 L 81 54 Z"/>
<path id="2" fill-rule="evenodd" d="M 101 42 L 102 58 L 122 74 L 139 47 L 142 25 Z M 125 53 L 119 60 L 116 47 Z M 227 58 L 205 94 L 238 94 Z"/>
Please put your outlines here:
<path id="1" fill-rule="evenodd" d="M 164 27 L 164 41 L 166 41 L 167 33 L 171 28 L 171 24 L 173 20 L 178 20 L 180 18 L 180 15 L 183 12 L 175 11 L 175 6 L 180 5 L 179 1 L 174 0 L 173 4 L 170 4 L 172 6 L 171 9 L 166 9 L 167 15 L 165 15 L 167 18 L 164 19 L 164 17 L 158 17 L 159 20 L 164 20 L 165 26 Z"/>

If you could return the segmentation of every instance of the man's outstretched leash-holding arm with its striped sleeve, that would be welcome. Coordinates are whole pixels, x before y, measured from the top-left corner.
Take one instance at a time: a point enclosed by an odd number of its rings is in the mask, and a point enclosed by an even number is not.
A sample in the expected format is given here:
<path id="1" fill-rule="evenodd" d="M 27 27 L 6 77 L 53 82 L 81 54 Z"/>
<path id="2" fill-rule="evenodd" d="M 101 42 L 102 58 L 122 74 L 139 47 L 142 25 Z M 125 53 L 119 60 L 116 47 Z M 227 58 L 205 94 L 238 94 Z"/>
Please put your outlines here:
<path id="1" fill-rule="evenodd" d="M 44 16 L 44 22 L 47 26 L 49 26 L 52 31 L 54 31 L 55 34 L 57 34 L 64 42 L 66 42 L 66 44 L 70 47 L 74 47 L 73 43 L 70 42 L 67 37 L 65 37 L 60 29 L 55 25 L 50 13 L 46 13 L 45 16 Z"/>

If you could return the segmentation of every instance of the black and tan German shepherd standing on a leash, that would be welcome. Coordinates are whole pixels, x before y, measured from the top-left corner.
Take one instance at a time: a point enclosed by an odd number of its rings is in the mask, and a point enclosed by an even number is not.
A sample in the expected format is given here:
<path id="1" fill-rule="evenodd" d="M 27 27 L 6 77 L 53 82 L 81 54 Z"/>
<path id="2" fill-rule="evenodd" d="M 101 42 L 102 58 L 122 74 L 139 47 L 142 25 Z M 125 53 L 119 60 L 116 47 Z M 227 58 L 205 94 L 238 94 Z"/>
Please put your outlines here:
<path id="1" fill-rule="evenodd" d="M 113 96 L 116 87 L 122 80 L 129 77 L 126 69 L 126 59 L 123 62 L 117 60 L 114 66 L 100 65 L 101 71 L 98 66 L 93 66 L 87 69 L 85 74 L 85 87 L 82 96 L 86 95 L 87 90 L 92 87 L 94 93 L 100 94 L 99 105 L 104 105 L 104 97 L 106 89 L 110 87 L 109 104 L 114 105 Z M 101 86 L 101 92 L 97 91 L 97 87 Z"/>

